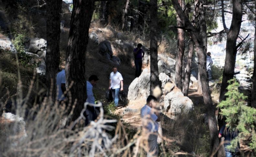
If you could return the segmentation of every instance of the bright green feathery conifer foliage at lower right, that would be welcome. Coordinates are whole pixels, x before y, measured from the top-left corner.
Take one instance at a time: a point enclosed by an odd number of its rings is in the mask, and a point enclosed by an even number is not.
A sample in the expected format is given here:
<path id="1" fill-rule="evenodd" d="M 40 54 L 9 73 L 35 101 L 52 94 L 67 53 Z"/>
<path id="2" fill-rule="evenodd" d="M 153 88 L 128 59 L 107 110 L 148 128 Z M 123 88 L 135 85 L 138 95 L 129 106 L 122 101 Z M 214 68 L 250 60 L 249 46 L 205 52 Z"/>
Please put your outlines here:
<path id="1" fill-rule="evenodd" d="M 217 107 L 221 108 L 221 115 L 225 116 L 227 127 L 232 131 L 239 131 L 237 139 L 231 141 L 231 149 L 234 149 L 237 141 L 250 138 L 250 149 L 256 151 L 256 109 L 246 106 L 246 98 L 243 93 L 239 93 L 239 83 L 235 80 L 229 80 L 227 90 L 225 94 L 227 99 L 222 101 Z"/>

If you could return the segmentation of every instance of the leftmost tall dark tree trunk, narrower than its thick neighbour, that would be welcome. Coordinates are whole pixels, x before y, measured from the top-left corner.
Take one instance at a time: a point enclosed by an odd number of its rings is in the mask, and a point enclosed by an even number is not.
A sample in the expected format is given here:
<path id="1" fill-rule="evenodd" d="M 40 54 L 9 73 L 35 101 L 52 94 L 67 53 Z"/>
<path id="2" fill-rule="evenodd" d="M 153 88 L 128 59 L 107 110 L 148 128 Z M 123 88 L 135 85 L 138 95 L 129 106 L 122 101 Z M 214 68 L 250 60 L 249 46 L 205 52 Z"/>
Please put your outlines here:
<path id="1" fill-rule="evenodd" d="M 46 85 L 47 96 L 50 96 L 52 102 L 56 98 L 56 73 L 60 64 L 61 6 L 62 0 L 46 1 Z"/>

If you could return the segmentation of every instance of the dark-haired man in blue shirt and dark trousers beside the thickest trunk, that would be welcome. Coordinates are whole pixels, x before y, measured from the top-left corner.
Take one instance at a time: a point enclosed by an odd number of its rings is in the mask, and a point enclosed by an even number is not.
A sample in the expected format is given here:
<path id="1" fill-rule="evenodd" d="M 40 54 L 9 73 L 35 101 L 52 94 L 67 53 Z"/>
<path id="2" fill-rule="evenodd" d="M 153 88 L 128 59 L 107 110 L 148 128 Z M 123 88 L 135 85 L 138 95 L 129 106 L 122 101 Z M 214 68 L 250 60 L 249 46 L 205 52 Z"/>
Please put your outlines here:
<path id="1" fill-rule="evenodd" d="M 87 99 L 86 102 L 90 104 L 95 104 L 95 98 L 93 96 L 92 88 L 98 82 L 98 77 L 96 75 L 91 75 L 89 80 L 86 82 L 86 92 L 87 92 Z M 84 112 L 84 116 L 86 118 L 85 125 L 88 125 L 90 121 L 94 121 L 97 118 L 96 109 L 93 106 L 87 105 L 86 110 Z"/>

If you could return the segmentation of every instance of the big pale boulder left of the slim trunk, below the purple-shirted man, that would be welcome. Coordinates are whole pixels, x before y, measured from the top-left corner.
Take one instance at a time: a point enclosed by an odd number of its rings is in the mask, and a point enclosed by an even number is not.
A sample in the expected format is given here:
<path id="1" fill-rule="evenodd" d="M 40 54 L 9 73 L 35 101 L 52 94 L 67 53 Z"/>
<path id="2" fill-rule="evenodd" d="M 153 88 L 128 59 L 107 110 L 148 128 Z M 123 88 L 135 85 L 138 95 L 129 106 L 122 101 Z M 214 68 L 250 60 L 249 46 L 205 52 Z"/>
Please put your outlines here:
<path id="1" fill-rule="evenodd" d="M 128 100 L 146 99 L 150 95 L 150 71 L 144 69 L 139 77 L 136 77 L 128 89 Z"/>

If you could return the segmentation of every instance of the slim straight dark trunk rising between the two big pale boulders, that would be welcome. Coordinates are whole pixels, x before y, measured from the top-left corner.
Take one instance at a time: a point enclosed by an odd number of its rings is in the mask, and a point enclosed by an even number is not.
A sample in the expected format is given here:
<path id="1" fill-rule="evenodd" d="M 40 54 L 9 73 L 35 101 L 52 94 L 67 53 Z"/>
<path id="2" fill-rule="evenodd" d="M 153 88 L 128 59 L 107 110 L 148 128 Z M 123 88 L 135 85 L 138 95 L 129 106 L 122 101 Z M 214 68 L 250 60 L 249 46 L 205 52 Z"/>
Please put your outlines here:
<path id="1" fill-rule="evenodd" d="M 157 65 L 157 0 L 150 0 L 150 94 L 160 86 Z"/>

